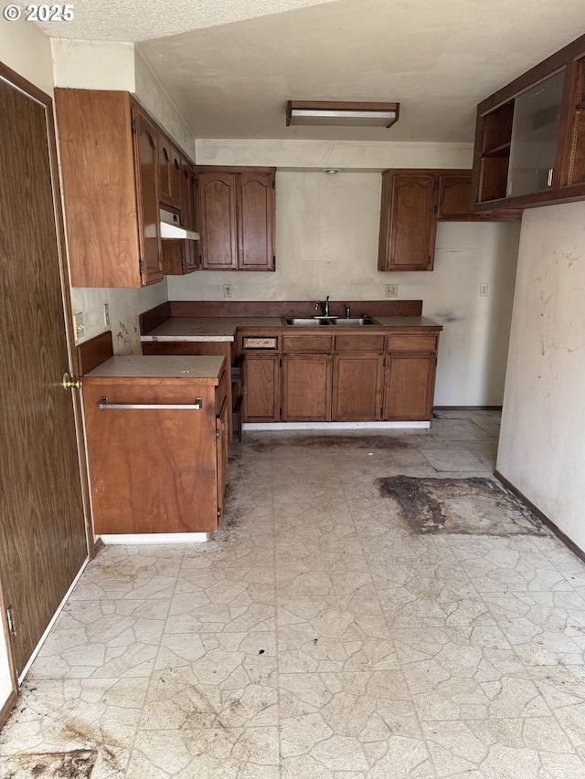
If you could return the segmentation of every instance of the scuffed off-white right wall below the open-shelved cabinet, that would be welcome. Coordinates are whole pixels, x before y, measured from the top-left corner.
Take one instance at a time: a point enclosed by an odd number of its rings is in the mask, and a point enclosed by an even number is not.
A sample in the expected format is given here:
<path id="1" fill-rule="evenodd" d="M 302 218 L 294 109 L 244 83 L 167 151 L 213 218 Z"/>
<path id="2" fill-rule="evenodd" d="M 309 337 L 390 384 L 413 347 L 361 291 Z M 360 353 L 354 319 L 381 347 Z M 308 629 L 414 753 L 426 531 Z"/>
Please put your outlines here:
<path id="1" fill-rule="evenodd" d="M 497 468 L 585 551 L 585 203 L 525 212 Z"/>

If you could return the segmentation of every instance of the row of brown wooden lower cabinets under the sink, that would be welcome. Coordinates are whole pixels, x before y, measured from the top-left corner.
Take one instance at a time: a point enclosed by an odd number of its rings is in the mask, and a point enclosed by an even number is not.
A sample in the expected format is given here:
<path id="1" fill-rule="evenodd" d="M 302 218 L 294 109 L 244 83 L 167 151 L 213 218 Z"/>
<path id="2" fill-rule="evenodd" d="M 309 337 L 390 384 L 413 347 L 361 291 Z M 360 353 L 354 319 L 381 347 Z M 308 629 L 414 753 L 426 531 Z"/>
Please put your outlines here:
<path id="1" fill-rule="evenodd" d="M 431 420 L 438 331 L 271 338 L 282 353 L 242 352 L 244 422 Z"/>

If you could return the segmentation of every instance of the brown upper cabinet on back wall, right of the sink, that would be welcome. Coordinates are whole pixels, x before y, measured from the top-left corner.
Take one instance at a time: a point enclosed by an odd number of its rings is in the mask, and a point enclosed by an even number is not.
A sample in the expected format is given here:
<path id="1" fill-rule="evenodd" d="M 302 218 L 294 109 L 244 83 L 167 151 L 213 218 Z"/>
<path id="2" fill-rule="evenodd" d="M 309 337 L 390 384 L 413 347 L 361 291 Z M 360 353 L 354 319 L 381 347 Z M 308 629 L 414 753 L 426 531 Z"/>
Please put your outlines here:
<path id="1" fill-rule="evenodd" d="M 382 174 L 378 270 L 432 270 L 437 222 L 517 221 L 522 212 L 474 214 L 472 172 L 394 169 Z"/>

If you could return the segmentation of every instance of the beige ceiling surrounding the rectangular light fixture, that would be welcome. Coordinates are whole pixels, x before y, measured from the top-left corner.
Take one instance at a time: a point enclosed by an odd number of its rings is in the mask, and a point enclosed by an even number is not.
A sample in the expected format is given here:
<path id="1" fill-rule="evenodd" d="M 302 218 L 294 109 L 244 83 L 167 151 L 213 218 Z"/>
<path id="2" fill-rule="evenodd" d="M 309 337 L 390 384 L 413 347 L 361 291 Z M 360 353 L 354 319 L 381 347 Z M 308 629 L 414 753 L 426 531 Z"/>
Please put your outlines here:
<path id="1" fill-rule="evenodd" d="M 472 142 L 479 100 L 585 33 L 585 0 L 74 7 L 75 22 L 58 34 L 141 41 L 197 138 Z M 396 100 L 400 119 L 388 131 L 287 128 L 287 100 Z"/>

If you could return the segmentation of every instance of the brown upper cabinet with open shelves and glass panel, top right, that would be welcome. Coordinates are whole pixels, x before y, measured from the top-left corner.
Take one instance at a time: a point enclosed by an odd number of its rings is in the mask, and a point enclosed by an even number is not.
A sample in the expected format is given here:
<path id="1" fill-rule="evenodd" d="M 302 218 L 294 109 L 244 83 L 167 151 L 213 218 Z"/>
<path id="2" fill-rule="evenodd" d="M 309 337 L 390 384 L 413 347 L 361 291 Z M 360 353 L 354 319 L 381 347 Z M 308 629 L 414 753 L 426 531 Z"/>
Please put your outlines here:
<path id="1" fill-rule="evenodd" d="M 477 107 L 473 211 L 585 199 L 585 36 Z"/>

